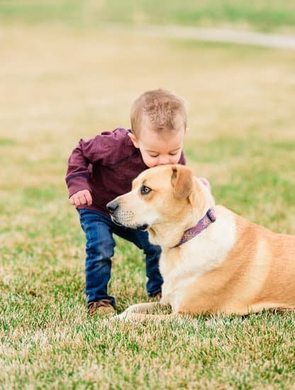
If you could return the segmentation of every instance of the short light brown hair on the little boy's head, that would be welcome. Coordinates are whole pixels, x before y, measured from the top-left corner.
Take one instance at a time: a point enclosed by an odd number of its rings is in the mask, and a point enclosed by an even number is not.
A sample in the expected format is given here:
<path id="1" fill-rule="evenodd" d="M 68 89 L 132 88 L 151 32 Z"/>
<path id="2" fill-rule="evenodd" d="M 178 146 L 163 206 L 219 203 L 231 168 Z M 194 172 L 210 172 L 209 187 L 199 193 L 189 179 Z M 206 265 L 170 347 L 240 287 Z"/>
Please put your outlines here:
<path id="1" fill-rule="evenodd" d="M 181 96 L 167 89 L 146 91 L 136 99 L 131 107 L 131 128 L 136 137 L 147 118 L 155 131 L 176 129 L 179 117 L 184 129 L 187 128 L 187 106 Z M 178 121 L 177 121 L 178 119 Z"/>

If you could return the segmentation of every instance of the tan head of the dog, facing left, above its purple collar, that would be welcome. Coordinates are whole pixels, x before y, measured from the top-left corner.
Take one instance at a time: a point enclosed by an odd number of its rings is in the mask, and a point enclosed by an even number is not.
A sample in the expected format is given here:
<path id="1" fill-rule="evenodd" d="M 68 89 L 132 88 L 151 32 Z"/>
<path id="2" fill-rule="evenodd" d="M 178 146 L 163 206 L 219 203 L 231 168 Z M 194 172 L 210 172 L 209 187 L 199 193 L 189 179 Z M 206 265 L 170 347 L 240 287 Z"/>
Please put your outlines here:
<path id="1" fill-rule="evenodd" d="M 201 218 L 213 204 L 210 189 L 191 169 L 161 165 L 142 172 L 133 180 L 130 192 L 106 207 L 118 225 L 146 230 Z"/>

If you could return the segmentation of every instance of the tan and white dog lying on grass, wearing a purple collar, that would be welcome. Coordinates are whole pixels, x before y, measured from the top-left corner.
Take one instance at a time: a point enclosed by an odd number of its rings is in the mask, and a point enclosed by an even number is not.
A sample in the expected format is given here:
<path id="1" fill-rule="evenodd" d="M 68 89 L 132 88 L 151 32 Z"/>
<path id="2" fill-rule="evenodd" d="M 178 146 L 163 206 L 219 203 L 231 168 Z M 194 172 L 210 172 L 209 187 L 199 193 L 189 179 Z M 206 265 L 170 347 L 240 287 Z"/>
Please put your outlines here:
<path id="1" fill-rule="evenodd" d="M 178 245 L 208 209 L 216 221 Z M 133 181 L 132 191 L 110 202 L 108 210 L 115 223 L 147 228 L 150 242 L 162 247 L 160 303 L 170 304 L 173 316 L 295 307 L 295 236 L 273 233 L 215 206 L 211 191 L 191 169 L 147 169 Z M 130 306 L 118 317 L 158 318 L 136 314 L 152 305 Z"/>

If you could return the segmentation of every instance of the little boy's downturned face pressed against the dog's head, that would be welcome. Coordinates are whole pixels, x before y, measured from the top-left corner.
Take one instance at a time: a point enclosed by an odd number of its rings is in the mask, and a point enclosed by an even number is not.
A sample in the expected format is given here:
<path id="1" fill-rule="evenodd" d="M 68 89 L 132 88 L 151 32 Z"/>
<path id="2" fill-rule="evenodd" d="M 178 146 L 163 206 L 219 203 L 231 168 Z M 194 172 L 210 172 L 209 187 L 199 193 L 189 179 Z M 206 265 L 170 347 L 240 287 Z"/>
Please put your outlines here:
<path id="1" fill-rule="evenodd" d="M 138 147 L 147 167 L 156 165 L 177 164 L 182 154 L 184 126 L 179 130 L 162 130 L 157 133 L 149 126 L 140 130 L 138 138 L 129 133 L 135 147 Z"/>

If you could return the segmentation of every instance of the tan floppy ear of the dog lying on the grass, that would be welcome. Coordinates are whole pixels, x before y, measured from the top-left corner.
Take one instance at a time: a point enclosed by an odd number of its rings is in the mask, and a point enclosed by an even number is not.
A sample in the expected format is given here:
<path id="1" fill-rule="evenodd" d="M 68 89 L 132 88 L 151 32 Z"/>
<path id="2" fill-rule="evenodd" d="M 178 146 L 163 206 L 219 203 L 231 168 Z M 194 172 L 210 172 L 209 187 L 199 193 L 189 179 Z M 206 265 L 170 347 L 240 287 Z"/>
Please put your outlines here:
<path id="1" fill-rule="evenodd" d="M 176 199 L 185 199 L 189 197 L 194 188 L 193 173 L 191 172 L 191 169 L 184 167 L 184 165 L 173 165 L 171 184 Z"/>

